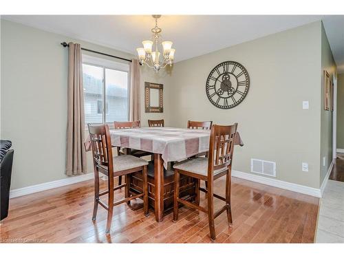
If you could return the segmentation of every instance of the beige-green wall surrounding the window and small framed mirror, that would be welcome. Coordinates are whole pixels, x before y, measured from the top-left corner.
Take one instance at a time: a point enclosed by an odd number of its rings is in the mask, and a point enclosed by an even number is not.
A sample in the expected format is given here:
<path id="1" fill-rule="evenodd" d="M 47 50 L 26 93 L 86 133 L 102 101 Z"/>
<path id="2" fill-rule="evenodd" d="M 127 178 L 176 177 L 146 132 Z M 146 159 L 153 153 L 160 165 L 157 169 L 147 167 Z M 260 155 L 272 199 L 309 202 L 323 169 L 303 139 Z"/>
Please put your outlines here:
<path id="1" fill-rule="evenodd" d="M 63 41 L 132 58 L 131 54 L 107 47 L 1 20 L 1 139 L 12 140 L 14 149 L 11 189 L 67 178 L 68 56 L 67 50 L 60 45 Z M 144 69 L 141 72 L 142 82 L 164 83 L 164 78 Z M 143 92 L 144 85 L 141 86 Z M 166 98 L 169 87 L 166 83 L 164 86 Z M 144 114 L 143 100 L 141 105 L 142 120 L 158 117 Z M 164 114 L 159 117 L 166 118 L 168 109 L 166 105 Z M 92 172 L 90 153 L 88 157 L 87 168 Z"/>

